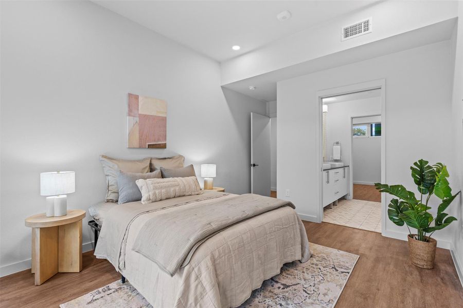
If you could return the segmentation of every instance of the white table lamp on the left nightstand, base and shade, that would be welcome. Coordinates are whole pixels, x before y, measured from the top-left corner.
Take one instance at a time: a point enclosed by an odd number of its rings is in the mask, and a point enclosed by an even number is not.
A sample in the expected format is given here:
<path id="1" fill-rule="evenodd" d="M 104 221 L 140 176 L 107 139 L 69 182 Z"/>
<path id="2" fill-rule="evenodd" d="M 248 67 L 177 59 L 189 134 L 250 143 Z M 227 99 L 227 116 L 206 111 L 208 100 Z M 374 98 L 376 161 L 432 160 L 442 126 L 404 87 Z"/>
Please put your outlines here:
<path id="1" fill-rule="evenodd" d="M 40 174 L 40 195 L 47 197 L 46 216 L 67 214 L 67 196 L 76 191 L 74 171 L 43 172 Z"/>

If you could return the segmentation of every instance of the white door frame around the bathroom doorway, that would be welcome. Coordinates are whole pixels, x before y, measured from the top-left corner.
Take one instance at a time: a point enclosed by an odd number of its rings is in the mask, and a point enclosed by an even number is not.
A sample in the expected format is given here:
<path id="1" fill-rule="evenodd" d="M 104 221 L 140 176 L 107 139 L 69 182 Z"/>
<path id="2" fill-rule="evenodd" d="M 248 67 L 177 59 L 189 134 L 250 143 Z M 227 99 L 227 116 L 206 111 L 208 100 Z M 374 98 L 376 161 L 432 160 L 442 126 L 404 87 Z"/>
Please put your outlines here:
<path id="1" fill-rule="evenodd" d="M 346 85 L 342 87 L 329 88 L 325 90 L 319 90 L 316 92 L 316 101 L 318 112 L 316 134 L 317 134 L 317 155 L 316 155 L 316 166 L 317 170 L 320 170 L 318 177 L 318 215 L 317 222 L 323 221 L 323 138 L 322 138 L 322 99 L 332 97 L 336 95 L 349 94 L 354 92 L 362 92 L 373 89 L 381 89 L 381 183 L 387 183 L 386 181 L 386 80 L 378 79 L 363 83 L 357 83 L 352 85 Z M 352 150 L 352 148 L 351 148 Z M 352 174 L 350 170 L 350 174 Z M 385 194 L 381 194 L 381 234 L 384 235 L 386 232 L 386 217 L 387 217 L 387 206 Z"/>

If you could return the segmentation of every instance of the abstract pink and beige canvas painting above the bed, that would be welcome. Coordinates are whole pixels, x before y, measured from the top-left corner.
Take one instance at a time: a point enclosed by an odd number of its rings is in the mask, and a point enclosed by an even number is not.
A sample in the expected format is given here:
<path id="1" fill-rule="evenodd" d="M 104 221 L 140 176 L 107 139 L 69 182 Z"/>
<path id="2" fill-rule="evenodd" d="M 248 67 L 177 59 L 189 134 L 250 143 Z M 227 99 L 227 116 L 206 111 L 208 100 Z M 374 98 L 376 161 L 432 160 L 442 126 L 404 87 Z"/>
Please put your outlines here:
<path id="1" fill-rule="evenodd" d="M 129 93 L 127 114 L 128 147 L 167 147 L 167 103 Z"/>

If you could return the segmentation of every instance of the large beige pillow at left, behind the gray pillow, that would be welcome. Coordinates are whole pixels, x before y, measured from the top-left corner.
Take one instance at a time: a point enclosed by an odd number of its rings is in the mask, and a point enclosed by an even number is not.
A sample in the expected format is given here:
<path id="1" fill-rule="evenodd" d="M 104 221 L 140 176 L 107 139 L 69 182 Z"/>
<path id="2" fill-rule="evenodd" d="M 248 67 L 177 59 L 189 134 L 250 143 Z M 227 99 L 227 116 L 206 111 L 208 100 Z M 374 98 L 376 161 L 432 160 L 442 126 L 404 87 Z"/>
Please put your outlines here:
<path id="1" fill-rule="evenodd" d="M 119 199 L 119 187 L 117 186 L 117 176 L 119 171 L 133 173 L 150 172 L 151 158 L 140 160 L 116 159 L 101 155 L 100 162 L 106 176 L 106 198 L 105 202 L 117 202 Z"/>

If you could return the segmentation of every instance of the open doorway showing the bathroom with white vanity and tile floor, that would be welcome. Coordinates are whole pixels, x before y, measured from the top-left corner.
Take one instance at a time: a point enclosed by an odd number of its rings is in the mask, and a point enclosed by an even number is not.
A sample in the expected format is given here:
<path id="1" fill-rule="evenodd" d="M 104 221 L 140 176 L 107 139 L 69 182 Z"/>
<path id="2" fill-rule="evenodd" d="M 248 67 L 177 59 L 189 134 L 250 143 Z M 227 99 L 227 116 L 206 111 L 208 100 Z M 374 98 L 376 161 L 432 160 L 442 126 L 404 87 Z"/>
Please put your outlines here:
<path id="1" fill-rule="evenodd" d="M 323 221 L 381 232 L 381 88 L 322 98 Z"/>

